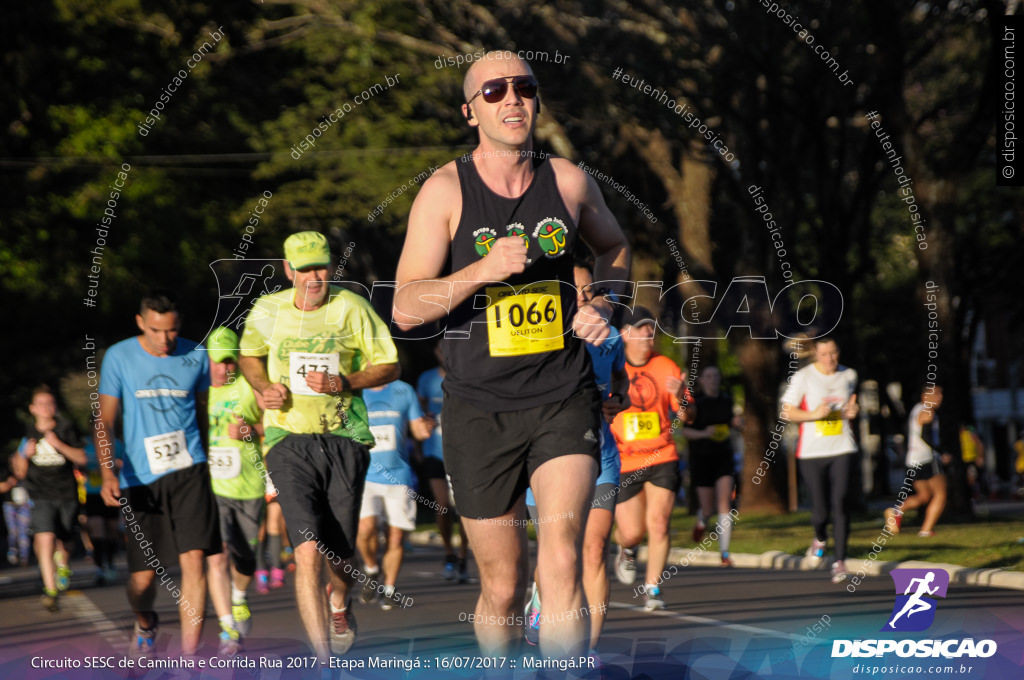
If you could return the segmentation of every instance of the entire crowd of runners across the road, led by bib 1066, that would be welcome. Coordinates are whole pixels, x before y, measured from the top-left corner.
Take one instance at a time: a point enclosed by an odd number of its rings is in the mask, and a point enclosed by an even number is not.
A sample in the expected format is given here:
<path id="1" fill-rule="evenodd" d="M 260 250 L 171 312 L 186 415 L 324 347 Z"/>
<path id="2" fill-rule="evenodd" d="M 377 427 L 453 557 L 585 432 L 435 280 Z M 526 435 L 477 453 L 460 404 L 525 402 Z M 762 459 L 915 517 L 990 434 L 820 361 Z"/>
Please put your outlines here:
<path id="1" fill-rule="evenodd" d="M 97 579 L 115 577 L 113 556 L 126 546 L 137 654 L 157 651 L 160 588 L 178 604 L 182 654 L 197 653 L 208 594 L 218 652 L 237 653 L 253 624 L 249 591 L 285 581 L 286 541 L 314 652 L 346 653 L 357 633 L 353 598 L 385 610 L 408 601 L 396 588 L 422 503 L 443 541 L 444 579 L 468 580 L 473 548 L 480 594 L 471 621 L 483 653 L 512 651 L 525 635 L 548 656 L 596 655 L 609 571 L 633 584 L 644 543 L 644 606 L 666 606 L 677 434 L 688 441 L 699 503 L 693 539 L 717 514 L 721 563 L 731 566 L 731 439 L 741 418 L 716 366 L 687 382 L 654 351 L 655 316 L 615 304 L 628 294 L 627 239 L 593 178 L 530 153 L 538 87 L 514 56 L 481 59 L 466 74 L 462 113 L 479 145 L 424 183 L 396 272 L 394 326 L 444 329 L 438 367 L 415 388 L 399 380 L 388 324 L 329 282 L 328 240 L 301 231 L 284 243 L 292 285 L 202 345 L 179 336 L 183 310 L 171 295 L 143 297 L 138 335 L 106 349 L 85 445 L 53 394 L 34 392 L 34 424 L 0 492 L 13 499 L 28 487 L 48 608 L 59 607 L 70 576 L 61 542 L 78 513 L 76 468 Z M 499 153 L 508 151 L 518 153 Z M 836 582 L 847 576 L 856 386 L 836 341 L 819 339 L 782 397 L 783 419 L 800 424 L 813 505 L 808 556 L 824 555 L 830 519 Z M 938 465 L 922 443 L 909 464 Z M 938 482 L 928 491 L 915 502 L 940 498 Z M 6 505 L 18 503 L 5 514 Z M 926 528 L 937 513 L 929 506 Z M 27 558 L 27 547 L 15 550 L 15 560 Z M 589 615 L 566 615 L 579 611 Z M 522 619 L 525 631 L 513 623 Z"/>

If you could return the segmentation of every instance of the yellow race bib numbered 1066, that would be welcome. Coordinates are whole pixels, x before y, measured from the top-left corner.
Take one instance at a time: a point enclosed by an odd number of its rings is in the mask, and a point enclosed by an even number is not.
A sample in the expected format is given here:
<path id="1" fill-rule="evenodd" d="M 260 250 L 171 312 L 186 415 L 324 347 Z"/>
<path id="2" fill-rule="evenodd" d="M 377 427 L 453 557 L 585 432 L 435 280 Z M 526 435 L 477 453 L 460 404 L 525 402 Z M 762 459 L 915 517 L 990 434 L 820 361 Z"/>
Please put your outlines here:
<path id="1" fill-rule="evenodd" d="M 562 300 L 557 281 L 524 286 L 518 291 L 490 287 L 487 305 L 487 349 L 492 356 L 519 356 L 561 349 Z"/>

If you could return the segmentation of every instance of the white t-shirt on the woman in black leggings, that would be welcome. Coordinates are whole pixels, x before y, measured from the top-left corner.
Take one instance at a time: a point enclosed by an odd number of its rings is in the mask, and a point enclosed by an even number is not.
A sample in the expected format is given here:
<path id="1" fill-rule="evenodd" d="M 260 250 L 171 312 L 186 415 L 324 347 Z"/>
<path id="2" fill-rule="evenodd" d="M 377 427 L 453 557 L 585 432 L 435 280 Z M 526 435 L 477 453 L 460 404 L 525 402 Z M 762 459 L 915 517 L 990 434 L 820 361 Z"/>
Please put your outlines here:
<path id="1" fill-rule="evenodd" d="M 794 374 L 782 395 L 783 403 L 804 411 L 814 411 L 818 405 L 827 403 L 833 410 L 825 420 L 800 424 L 797 458 L 827 458 L 857 451 L 853 429 L 842 414 L 842 408 L 856 390 L 857 372 L 845 366 L 840 366 L 830 376 L 822 374 L 813 364 Z"/>

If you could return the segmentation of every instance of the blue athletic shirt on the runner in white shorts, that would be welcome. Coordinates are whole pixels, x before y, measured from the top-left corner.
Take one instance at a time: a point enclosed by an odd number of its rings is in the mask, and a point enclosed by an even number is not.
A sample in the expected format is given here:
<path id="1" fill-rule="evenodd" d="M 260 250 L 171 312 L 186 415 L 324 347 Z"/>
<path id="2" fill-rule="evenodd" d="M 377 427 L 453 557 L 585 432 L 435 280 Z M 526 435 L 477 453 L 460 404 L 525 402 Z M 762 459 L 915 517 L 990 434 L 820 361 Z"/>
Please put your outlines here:
<path id="1" fill-rule="evenodd" d="M 377 441 L 370 450 L 367 481 L 412 486 L 414 475 L 409 465 L 407 433 L 410 422 L 423 418 L 416 391 L 409 383 L 395 380 L 381 389 L 362 390 L 362 400 L 367 405 L 370 431 Z"/>

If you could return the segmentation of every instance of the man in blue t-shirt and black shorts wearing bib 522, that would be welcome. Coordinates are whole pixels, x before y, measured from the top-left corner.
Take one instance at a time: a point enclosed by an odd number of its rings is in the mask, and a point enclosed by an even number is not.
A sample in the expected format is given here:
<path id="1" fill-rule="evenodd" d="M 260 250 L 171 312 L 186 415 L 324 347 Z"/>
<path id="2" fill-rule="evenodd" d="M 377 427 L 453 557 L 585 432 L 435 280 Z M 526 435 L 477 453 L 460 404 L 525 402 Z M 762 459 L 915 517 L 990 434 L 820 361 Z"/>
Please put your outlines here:
<path id="1" fill-rule="evenodd" d="M 159 576 L 178 603 L 181 653 L 190 655 L 206 607 L 205 557 L 221 549 L 206 458 L 210 365 L 202 345 L 178 337 L 177 305 L 167 295 L 143 298 L 135 323 L 138 336 L 108 349 L 93 405 L 100 496 L 121 508 L 128 530 L 128 601 L 136 620 L 131 651 L 156 651 Z M 120 476 L 110 443 L 119 413 L 127 452 Z M 181 565 L 180 588 L 167 572 L 173 555 Z"/>

